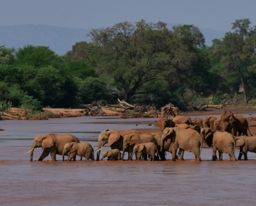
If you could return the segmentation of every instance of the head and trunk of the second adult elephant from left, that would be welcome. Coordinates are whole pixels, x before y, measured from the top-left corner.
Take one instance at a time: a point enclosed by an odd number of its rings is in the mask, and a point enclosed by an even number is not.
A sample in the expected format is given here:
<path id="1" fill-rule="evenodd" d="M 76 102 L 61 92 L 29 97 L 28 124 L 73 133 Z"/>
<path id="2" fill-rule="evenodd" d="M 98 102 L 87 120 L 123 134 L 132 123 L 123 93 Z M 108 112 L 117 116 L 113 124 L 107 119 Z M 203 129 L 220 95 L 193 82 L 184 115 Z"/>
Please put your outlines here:
<path id="1" fill-rule="evenodd" d="M 99 139 L 98 139 L 98 147 L 97 147 L 97 161 L 99 161 L 100 156 L 100 150 L 105 144 L 109 144 L 111 146 L 113 143 L 118 141 L 120 139 L 120 133 L 116 130 L 105 130 L 103 132 L 100 132 Z M 96 151 L 95 150 L 95 151 Z"/>

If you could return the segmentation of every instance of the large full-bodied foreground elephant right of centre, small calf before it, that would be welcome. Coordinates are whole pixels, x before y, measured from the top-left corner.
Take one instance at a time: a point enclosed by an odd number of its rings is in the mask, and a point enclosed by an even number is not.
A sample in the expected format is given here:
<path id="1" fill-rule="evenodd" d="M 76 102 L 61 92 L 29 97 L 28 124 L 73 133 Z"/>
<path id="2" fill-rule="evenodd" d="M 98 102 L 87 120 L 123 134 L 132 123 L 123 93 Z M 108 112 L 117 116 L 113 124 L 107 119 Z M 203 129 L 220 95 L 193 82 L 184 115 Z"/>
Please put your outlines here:
<path id="1" fill-rule="evenodd" d="M 184 129 L 180 127 L 175 128 L 165 128 L 161 137 L 161 151 L 164 148 L 164 142 L 171 139 L 172 144 L 172 161 L 175 161 L 177 148 L 180 151 L 190 151 L 193 152 L 195 158 L 201 161 L 201 151 L 203 146 L 203 140 L 201 135 L 194 130 Z M 180 154 L 180 160 L 183 159 L 183 155 Z"/>

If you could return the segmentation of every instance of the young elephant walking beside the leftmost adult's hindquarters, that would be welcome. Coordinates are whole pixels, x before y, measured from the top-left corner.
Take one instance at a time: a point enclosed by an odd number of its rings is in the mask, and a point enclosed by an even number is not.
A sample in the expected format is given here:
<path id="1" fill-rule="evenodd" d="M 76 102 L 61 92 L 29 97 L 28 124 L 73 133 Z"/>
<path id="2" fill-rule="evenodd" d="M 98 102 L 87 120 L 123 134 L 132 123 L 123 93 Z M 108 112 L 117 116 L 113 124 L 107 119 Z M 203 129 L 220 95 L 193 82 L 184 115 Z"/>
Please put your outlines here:
<path id="1" fill-rule="evenodd" d="M 76 161 L 76 156 L 80 156 L 81 160 L 82 157 L 85 157 L 86 161 L 89 161 L 91 159 L 94 161 L 94 150 L 91 144 L 87 142 L 69 142 L 66 143 L 64 146 L 64 150 L 62 153 L 63 161 L 64 161 L 64 156 L 68 155 L 68 160 L 71 161 Z"/>

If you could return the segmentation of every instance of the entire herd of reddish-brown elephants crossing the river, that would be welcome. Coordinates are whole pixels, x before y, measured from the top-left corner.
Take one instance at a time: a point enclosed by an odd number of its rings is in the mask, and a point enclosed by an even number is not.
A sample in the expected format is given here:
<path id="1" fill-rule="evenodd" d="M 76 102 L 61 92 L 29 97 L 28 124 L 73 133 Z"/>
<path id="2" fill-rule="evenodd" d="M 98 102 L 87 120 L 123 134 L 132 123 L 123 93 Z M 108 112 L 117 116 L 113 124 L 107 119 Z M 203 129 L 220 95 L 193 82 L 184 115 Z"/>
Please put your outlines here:
<path id="1" fill-rule="evenodd" d="M 244 116 L 234 116 L 232 112 L 226 112 L 220 117 L 208 116 L 204 119 L 176 116 L 173 119 L 159 119 L 156 123 L 161 130 L 159 133 L 140 133 L 137 130 L 128 129 L 124 131 L 105 130 L 99 134 L 97 146 L 97 158 L 100 160 L 100 151 L 106 144 L 111 148 L 102 154 L 108 160 L 124 160 L 125 152 L 128 153 L 127 160 L 132 160 L 135 153 L 137 160 L 155 161 L 166 160 L 165 152 L 172 153 L 172 161 L 178 159 L 177 149 L 179 148 L 179 158 L 184 160 L 184 152 L 193 152 L 195 159 L 201 161 L 201 151 L 203 142 L 213 149 L 213 161 L 218 160 L 216 152 L 218 150 L 219 160 L 222 160 L 222 153 L 229 154 L 236 161 L 234 150 L 240 147 L 240 160 L 244 155 L 247 160 L 247 152 L 256 153 L 256 136 L 248 136 L 249 130 L 247 119 Z M 68 156 L 67 161 L 76 161 L 76 156 L 84 157 L 86 161 L 94 161 L 94 149 L 87 142 L 80 143 L 76 136 L 71 134 L 48 133 L 37 135 L 34 139 L 30 153 L 30 160 L 33 161 L 34 149 L 41 147 L 42 155 L 38 161 L 42 161 L 49 154 L 53 161 L 56 155 L 62 155 L 63 161 Z M 95 150 L 95 151 L 96 151 Z M 121 153 L 122 151 L 122 153 Z"/>

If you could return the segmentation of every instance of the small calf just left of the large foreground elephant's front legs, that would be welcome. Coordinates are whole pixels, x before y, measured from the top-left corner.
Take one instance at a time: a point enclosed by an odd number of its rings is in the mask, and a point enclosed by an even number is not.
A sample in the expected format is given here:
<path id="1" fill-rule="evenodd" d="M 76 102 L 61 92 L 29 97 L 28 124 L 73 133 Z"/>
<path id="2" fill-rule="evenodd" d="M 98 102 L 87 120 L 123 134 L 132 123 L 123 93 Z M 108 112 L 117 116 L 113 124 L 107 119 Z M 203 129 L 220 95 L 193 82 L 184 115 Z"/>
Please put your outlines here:
<path id="1" fill-rule="evenodd" d="M 141 143 L 139 145 L 135 145 L 133 147 L 132 156 L 134 155 L 135 152 L 137 152 L 137 160 L 141 160 L 141 156 L 142 155 L 143 155 L 144 160 L 145 160 L 146 159 L 146 155 L 149 154 L 150 155 L 149 161 L 155 161 L 155 153 L 156 152 L 157 152 L 157 156 L 159 158 L 157 147 L 152 142 Z"/>

